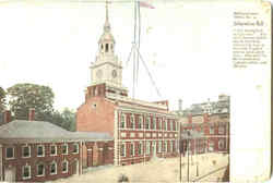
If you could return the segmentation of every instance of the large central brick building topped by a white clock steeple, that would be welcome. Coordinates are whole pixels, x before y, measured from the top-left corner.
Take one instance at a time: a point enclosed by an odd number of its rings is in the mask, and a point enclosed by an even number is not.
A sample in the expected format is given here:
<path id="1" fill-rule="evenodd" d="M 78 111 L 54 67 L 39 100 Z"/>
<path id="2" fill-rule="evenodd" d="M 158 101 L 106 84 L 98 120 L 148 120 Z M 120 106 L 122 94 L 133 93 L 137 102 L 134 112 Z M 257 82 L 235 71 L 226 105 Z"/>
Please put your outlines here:
<path id="1" fill-rule="evenodd" d="M 76 131 L 104 132 L 114 137 L 115 164 L 131 164 L 152 157 L 178 154 L 178 119 L 168 110 L 168 101 L 147 102 L 128 97 L 122 86 L 122 63 L 115 54 L 106 9 L 98 54 L 91 65 L 92 84 L 85 101 L 78 108 Z M 83 154 L 87 155 L 87 150 Z"/>

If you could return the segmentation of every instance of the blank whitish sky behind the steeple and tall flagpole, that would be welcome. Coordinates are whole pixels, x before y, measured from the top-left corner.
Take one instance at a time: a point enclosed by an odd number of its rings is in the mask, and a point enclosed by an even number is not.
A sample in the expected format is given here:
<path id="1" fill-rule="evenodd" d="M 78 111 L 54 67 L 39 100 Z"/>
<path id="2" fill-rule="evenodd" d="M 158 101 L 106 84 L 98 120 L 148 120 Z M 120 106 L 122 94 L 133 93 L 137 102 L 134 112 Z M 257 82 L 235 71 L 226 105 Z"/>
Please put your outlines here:
<path id="1" fill-rule="evenodd" d="M 150 1 L 151 2 L 151 1 Z M 170 109 L 216 100 L 230 93 L 230 17 L 219 3 L 151 2 L 141 9 L 140 52 L 162 94 L 157 96 L 143 65 L 135 98 L 168 99 Z M 123 62 L 123 85 L 132 96 L 132 3 L 111 3 L 109 21 L 116 54 Z M 215 15 L 217 14 L 217 15 Z M 97 54 L 105 3 L 0 1 L 0 86 L 47 85 L 55 107 L 76 109 L 91 85 L 91 62 Z"/>

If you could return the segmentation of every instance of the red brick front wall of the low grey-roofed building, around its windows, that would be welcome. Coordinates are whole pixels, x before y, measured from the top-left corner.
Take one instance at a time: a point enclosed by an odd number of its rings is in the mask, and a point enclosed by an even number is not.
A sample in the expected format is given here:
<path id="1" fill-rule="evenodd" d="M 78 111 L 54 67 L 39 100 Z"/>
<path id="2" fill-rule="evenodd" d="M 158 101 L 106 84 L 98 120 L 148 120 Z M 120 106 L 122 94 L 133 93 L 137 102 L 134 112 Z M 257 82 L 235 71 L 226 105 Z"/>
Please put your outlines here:
<path id="1" fill-rule="evenodd" d="M 43 143 L 43 144 L 27 144 L 31 146 L 31 157 L 29 158 L 23 158 L 22 157 L 22 147 L 25 144 L 11 144 L 11 145 L 3 145 L 2 154 L 3 154 L 3 172 L 5 169 L 12 167 L 15 168 L 15 181 L 19 182 L 44 182 L 49 180 L 56 180 L 60 178 L 67 178 L 71 174 L 73 174 L 73 162 L 79 162 L 79 169 L 81 167 L 80 164 L 80 149 L 78 154 L 72 154 L 73 150 L 73 144 L 74 143 L 68 143 L 68 155 L 62 155 L 62 143 L 55 143 L 57 145 L 57 155 L 50 156 L 50 143 Z M 44 145 L 45 147 L 45 156 L 44 157 L 37 157 L 37 145 Z M 5 148 L 7 147 L 14 147 L 14 158 L 13 159 L 7 159 L 5 157 Z M 80 147 L 80 145 L 79 145 Z M 67 160 L 69 162 L 68 172 L 62 173 L 62 161 Z M 51 162 L 57 163 L 57 174 L 50 174 L 49 164 Z M 44 163 L 45 164 L 45 175 L 44 176 L 37 176 L 37 163 Z M 22 168 L 23 166 L 31 166 L 31 179 L 23 180 L 22 178 Z"/>

